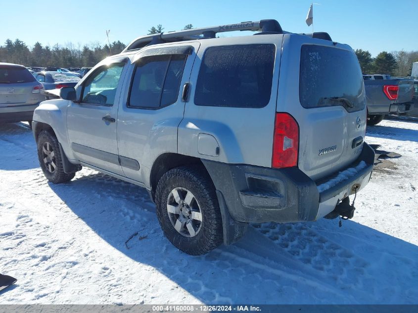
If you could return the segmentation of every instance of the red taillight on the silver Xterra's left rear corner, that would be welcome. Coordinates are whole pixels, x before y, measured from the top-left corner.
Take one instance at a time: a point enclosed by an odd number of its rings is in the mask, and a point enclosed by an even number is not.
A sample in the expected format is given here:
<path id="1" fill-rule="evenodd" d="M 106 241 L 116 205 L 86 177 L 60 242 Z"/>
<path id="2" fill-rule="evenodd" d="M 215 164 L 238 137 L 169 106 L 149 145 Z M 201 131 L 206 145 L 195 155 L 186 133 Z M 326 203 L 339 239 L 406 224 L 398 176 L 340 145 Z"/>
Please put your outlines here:
<path id="1" fill-rule="evenodd" d="M 299 151 L 299 126 L 287 113 L 276 113 L 273 136 L 272 167 L 285 168 L 297 165 Z"/>

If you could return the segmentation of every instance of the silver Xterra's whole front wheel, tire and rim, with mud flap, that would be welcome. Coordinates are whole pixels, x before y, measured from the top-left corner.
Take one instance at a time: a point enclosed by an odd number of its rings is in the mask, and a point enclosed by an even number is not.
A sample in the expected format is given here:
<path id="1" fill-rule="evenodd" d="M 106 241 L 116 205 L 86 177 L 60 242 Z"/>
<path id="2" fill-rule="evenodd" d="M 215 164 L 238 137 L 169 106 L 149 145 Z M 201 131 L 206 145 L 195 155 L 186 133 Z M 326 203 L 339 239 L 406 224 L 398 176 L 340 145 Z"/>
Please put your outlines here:
<path id="1" fill-rule="evenodd" d="M 62 183 L 74 178 L 75 173 L 65 173 L 58 139 L 42 131 L 38 136 L 38 159 L 46 179 L 53 183 Z"/>

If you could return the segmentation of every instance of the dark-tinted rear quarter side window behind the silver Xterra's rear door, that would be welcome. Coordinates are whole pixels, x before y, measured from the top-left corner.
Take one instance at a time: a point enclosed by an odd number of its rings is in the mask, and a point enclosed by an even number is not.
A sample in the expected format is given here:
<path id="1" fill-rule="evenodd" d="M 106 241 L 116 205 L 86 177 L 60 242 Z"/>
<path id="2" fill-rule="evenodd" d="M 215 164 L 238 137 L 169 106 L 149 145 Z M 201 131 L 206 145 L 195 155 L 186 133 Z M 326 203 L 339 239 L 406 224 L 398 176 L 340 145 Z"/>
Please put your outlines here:
<path id="1" fill-rule="evenodd" d="M 261 108 L 270 101 L 275 45 L 207 48 L 197 78 L 196 105 Z"/>

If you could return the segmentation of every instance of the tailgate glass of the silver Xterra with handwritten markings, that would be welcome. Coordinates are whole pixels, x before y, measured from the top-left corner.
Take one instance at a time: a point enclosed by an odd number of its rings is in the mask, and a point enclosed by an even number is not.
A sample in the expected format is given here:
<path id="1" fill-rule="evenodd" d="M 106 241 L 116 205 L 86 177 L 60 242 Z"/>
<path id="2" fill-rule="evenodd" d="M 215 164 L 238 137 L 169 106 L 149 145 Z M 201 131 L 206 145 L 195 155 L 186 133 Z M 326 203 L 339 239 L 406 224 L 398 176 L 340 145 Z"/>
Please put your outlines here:
<path id="1" fill-rule="evenodd" d="M 302 45 L 299 98 L 304 108 L 342 105 L 348 112 L 363 110 L 363 76 L 354 52 Z"/>

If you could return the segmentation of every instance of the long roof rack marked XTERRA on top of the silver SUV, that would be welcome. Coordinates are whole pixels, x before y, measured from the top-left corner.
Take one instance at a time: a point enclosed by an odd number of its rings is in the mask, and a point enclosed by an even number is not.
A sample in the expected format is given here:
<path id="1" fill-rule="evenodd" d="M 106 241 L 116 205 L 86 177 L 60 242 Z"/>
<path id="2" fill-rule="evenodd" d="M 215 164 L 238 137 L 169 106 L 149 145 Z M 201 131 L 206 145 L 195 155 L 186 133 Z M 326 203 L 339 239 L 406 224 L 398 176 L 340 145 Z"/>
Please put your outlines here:
<path id="1" fill-rule="evenodd" d="M 179 32 L 168 32 L 142 36 L 130 43 L 122 52 L 143 48 L 146 45 L 156 45 L 169 42 L 188 41 L 196 39 L 216 38 L 216 34 L 232 31 L 261 31 L 261 34 L 283 34 L 276 20 L 260 20 L 258 22 L 241 22 L 237 24 L 194 28 Z"/>

